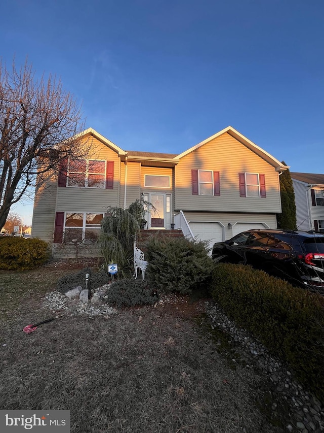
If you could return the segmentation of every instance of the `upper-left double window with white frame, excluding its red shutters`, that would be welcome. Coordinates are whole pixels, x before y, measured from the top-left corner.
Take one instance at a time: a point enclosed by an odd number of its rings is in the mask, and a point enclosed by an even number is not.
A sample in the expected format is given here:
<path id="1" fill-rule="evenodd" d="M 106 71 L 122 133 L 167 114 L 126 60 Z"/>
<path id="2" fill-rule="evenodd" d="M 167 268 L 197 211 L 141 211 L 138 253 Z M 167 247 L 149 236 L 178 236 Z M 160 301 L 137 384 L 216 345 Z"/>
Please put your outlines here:
<path id="1" fill-rule="evenodd" d="M 105 188 L 106 161 L 87 159 L 69 160 L 67 186 Z"/>

